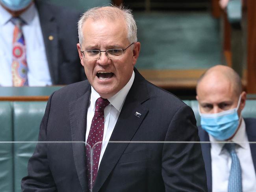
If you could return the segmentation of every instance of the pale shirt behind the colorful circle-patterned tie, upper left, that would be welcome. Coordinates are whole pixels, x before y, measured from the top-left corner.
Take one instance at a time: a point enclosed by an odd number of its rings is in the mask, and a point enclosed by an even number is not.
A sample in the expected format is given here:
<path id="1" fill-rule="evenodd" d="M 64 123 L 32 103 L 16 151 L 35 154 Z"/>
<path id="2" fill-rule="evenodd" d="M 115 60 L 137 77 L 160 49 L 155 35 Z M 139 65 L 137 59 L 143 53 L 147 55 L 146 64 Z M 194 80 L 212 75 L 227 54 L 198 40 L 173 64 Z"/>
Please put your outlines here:
<path id="1" fill-rule="evenodd" d="M 11 14 L 0 5 L 0 86 L 12 86 L 11 63 L 14 25 L 10 21 Z M 45 43 L 35 4 L 32 4 L 20 15 L 26 24 L 22 32 L 26 45 L 28 64 L 28 85 L 52 85 L 48 62 L 45 53 Z"/>

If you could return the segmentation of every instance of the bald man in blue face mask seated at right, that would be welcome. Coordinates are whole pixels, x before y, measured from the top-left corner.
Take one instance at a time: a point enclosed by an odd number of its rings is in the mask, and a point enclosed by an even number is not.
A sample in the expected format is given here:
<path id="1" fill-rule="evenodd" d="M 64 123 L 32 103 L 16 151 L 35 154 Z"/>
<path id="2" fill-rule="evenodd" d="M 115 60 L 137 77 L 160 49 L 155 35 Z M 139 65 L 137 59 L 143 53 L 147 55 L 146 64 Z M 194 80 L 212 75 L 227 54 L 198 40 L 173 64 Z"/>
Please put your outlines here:
<path id="1" fill-rule="evenodd" d="M 205 162 L 209 192 L 256 191 L 256 150 L 247 143 L 256 140 L 256 119 L 243 118 L 246 92 L 242 91 L 241 79 L 230 67 L 216 65 L 208 69 L 197 83 L 197 100 L 201 126 L 198 127 Z M 234 144 L 241 174 L 236 179 L 236 190 L 231 190 L 232 157 L 224 143 Z"/>

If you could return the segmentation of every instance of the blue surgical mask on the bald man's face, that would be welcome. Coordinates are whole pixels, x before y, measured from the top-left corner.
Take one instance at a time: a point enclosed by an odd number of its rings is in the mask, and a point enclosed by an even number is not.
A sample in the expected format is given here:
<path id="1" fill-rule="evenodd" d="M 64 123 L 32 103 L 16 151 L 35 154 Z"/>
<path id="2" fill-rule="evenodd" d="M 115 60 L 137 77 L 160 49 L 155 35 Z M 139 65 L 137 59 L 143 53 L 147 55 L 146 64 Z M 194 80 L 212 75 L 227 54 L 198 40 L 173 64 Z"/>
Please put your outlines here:
<path id="1" fill-rule="evenodd" d="M 227 140 L 232 137 L 239 126 L 241 120 L 238 117 L 237 110 L 241 101 L 241 95 L 239 97 L 237 107 L 221 113 L 200 113 L 198 105 L 198 112 L 201 116 L 201 126 L 207 133 L 212 135 L 217 140 Z"/>

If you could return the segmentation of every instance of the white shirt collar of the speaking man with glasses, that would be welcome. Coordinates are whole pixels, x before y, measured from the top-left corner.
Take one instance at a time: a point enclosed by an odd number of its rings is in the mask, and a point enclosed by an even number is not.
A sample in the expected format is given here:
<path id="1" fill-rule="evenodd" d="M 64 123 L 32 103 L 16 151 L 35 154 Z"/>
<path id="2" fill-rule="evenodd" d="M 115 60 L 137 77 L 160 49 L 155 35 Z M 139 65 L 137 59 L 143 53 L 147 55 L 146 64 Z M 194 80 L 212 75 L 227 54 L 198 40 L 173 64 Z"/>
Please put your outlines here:
<path id="1" fill-rule="evenodd" d="M 119 113 L 121 112 L 122 106 L 124 105 L 124 100 L 129 92 L 129 90 L 132 87 L 134 78 L 135 78 L 135 73 L 133 71 L 132 77 L 130 78 L 128 83 L 126 83 L 126 85 L 121 90 L 119 90 L 119 92 L 117 92 L 117 94 L 115 94 L 111 98 L 108 98 L 108 101 L 110 102 L 110 104 L 113 105 L 113 107 L 115 107 L 115 109 L 117 109 L 117 111 L 119 111 Z M 100 97 L 100 95 L 96 92 L 95 89 L 93 89 L 93 87 L 91 87 L 91 99 L 90 99 L 91 104 L 95 103 L 99 97 Z"/>

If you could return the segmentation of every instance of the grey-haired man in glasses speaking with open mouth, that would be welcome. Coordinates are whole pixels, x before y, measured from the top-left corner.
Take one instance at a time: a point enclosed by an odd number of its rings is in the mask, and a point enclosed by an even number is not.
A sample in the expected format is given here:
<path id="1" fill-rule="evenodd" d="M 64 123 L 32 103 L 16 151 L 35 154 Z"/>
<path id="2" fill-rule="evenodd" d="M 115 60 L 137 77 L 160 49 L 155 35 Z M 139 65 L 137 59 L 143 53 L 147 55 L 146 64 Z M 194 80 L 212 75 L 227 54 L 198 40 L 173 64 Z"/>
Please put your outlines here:
<path id="1" fill-rule="evenodd" d="M 88 81 L 50 96 L 39 133 L 41 142 L 72 143 L 39 143 L 22 191 L 206 192 L 193 111 L 134 68 L 130 11 L 90 9 L 78 33 Z"/>

